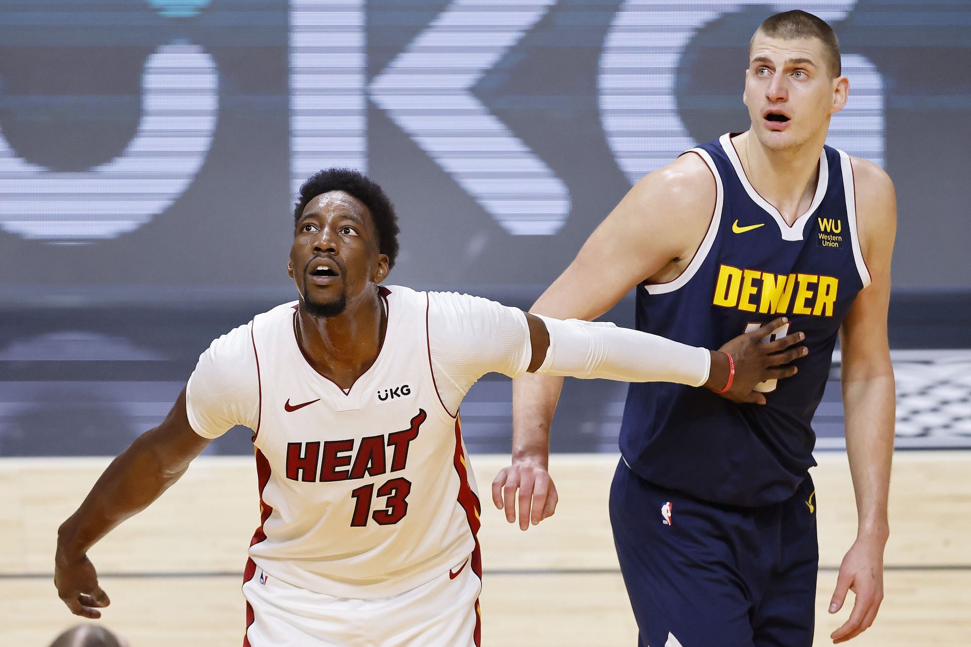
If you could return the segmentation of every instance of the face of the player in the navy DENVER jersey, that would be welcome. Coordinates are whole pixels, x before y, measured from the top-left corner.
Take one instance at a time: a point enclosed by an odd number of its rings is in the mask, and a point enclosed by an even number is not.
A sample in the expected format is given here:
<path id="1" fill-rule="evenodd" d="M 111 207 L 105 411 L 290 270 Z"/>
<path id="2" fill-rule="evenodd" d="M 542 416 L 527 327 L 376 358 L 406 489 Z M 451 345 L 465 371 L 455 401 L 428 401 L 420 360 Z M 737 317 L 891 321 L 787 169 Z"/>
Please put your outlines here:
<path id="1" fill-rule="evenodd" d="M 818 38 L 780 39 L 757 32 L 743 100 L 752 130 L 772 150 L 825 139 L 829 115 L 846 105 L 849 81 L 833 78 Z"/>

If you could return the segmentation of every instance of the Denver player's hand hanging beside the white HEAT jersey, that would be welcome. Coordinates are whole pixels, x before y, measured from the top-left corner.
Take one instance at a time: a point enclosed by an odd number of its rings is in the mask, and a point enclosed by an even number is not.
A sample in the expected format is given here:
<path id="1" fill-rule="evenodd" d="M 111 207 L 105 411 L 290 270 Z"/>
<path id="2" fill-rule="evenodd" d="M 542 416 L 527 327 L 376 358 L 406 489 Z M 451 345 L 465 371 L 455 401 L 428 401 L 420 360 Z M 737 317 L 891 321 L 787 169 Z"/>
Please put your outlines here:
<path id="1" fill-rule="evenodd" d="M 492 502 L 506 510 L 506 521 L 516 523 L 516 491 L 519 489 L 519 530 L 552 517 L 556 511 L 556 485 L 547 466 L 535 459 L 519 459 L 499 470 L 492 481 Z"/>

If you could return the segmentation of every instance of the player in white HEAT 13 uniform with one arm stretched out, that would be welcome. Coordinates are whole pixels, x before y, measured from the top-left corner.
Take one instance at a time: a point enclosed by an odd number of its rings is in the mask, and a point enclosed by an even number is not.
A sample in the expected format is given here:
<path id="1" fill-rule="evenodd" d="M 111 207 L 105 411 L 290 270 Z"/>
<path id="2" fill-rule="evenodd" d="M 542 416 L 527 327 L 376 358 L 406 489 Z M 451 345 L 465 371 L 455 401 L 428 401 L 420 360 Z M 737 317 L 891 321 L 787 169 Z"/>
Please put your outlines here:
<path id="1" fill-rule="evenodd" d="M 348 170 L 304 183 L 288 273 L 298 300 L 202 354 L 165 421 L 102 474 L 58 532 L 55 585 L 90 618 L 108 598 L 87 550 L 174 483 L 209 442 L 252 429 L 261 523 L 246 567 L 244 645 L 480 644 L 480 503 L 458 407 L 486 372 L 675 380 L 753 402 L 801 334 L 721 352 L 610 324 L 382 281 L 398 227 Z M 552 510 L 551 510 L 552 512 Z"/>

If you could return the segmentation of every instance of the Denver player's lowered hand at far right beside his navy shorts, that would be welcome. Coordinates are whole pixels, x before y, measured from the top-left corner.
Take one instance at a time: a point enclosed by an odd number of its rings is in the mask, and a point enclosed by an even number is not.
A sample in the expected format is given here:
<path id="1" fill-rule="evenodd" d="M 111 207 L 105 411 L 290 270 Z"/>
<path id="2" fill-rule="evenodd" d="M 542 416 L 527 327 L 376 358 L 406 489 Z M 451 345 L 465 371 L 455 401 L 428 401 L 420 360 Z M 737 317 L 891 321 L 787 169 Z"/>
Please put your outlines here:
<path id="1" fill-rule="evenodd" d="M 846 642 L 866 631 L 873 624 L 884 601 L 884 544 L 879 538 L 857 536 L 850 551 L 843 558 L 836 590 L 829 603 L 829 612 L 843 607 L 847 592 L 856 595 L 850 619 L 829 634 L 833 643 Z"/>

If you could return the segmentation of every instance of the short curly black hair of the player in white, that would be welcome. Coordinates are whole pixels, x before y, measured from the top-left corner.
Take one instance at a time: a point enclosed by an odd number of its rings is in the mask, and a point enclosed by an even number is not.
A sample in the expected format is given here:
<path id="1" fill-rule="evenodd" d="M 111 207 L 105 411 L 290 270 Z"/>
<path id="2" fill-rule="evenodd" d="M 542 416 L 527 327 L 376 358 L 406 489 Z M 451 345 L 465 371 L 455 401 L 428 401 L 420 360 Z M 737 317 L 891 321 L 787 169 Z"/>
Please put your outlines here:
<path id="1" fill-rule="evenodd" d="M 378 251 L 387 256 L 387 269 L 393 268 L 394 259 L 398 256 L 398 216 L 385 194 L 385 189 L 360 171 L 331 168 L 318 171 L 307 178 L 300 185 L 300 197 L 293 209 L 294 226 L 310 201 L 328 191 L 349 193 L 367 207 L 378 231 Z"/>

